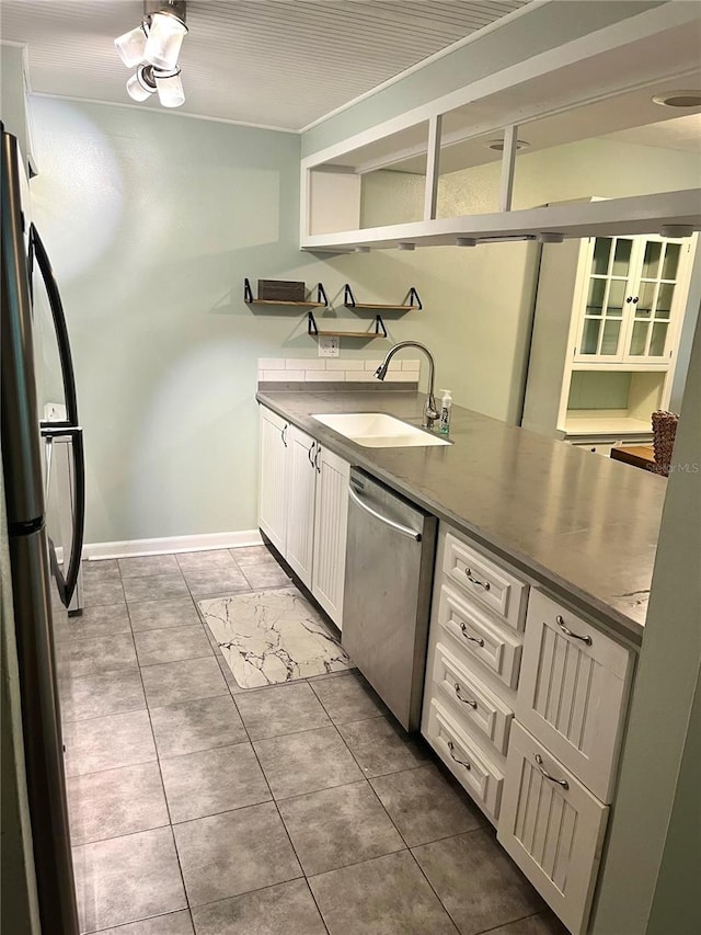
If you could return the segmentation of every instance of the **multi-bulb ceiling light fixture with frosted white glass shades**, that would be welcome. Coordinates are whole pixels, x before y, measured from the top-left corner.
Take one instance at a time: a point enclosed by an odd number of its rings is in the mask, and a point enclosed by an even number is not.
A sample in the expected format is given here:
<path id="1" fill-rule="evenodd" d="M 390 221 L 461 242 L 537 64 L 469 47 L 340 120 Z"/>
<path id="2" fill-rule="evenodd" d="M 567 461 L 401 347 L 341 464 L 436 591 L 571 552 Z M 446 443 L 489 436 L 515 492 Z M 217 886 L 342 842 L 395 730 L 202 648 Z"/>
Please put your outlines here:
<path id="1" fill-rule="evenodd" d="M 127 81 L 131 100 L 143 103 L 158 93 L 163 107 L 185 103 L 177 65 L 187 34 L 185 5 L 185 0 L 145 0 L 141 25 L 114 41 L 122 61 L 137 69 Z"/>

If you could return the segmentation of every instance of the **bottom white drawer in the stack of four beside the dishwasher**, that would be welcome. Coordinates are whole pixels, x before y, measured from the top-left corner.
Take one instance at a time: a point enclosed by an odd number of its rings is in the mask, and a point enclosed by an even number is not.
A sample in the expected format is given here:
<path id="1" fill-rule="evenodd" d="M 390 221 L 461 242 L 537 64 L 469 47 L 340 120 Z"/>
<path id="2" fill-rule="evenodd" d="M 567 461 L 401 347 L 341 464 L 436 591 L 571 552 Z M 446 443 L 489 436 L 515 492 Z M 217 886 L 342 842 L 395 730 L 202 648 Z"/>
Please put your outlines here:
<path id="1" fill-rule="evenodd" d="M 482 748 L 460 730 L 457 720 L 436 699 L 428 708 L 425 736 L 460 785 L 496 821 L 504 774 Z"/>

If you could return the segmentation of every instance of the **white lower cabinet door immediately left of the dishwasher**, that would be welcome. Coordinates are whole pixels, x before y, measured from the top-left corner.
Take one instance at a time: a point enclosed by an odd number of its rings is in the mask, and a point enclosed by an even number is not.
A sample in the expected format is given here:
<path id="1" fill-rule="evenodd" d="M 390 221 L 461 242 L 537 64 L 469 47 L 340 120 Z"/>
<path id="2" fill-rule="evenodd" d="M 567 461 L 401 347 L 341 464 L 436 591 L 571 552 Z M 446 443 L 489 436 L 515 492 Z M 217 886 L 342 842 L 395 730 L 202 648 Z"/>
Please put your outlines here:
<path id="1" fill-rule="evenodd" d="M 314 506 L 314 548 L 311 593 L 338 629 L 343 626 L 343 585 L 348 528 L 350 466 L 318 447 Z"/>

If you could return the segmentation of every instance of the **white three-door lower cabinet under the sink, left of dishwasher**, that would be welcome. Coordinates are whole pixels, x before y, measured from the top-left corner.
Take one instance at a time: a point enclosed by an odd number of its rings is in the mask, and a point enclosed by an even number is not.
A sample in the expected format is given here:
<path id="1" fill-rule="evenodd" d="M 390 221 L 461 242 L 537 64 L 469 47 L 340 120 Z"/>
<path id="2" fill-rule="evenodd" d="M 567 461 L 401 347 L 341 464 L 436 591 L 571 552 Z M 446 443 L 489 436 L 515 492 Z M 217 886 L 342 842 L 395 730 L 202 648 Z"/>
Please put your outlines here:
<path id="1" fill-rule="evenodd" d="M 338 628 L 349 465 L 261 407 L 258 523 Z"/>

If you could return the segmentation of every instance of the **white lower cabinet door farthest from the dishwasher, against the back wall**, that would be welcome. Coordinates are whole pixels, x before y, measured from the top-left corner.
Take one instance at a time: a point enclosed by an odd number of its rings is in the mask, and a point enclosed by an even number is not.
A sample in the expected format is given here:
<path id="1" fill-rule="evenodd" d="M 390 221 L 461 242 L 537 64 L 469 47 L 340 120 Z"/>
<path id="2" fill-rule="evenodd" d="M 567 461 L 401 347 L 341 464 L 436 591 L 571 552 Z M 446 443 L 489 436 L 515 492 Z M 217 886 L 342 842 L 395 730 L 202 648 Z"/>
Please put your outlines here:
<path id="1" fill-rule="evenodd" d="M 289 423 L 285 419 L 261 407 L 258 525 L 283 555 L 290 486 L 288 433 Z"/>

